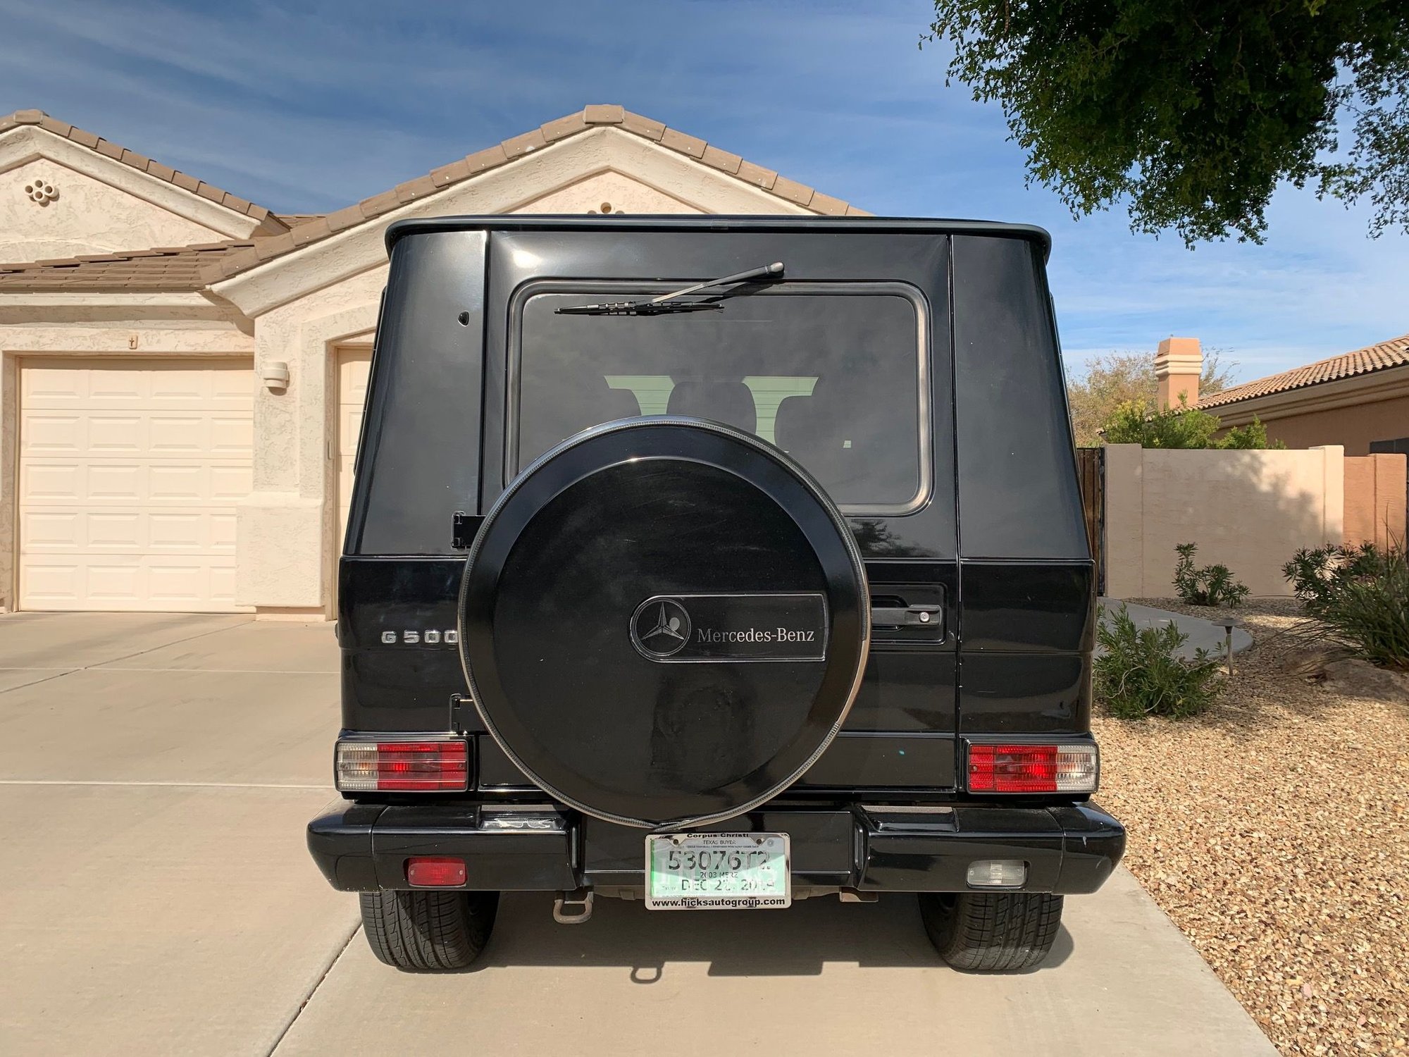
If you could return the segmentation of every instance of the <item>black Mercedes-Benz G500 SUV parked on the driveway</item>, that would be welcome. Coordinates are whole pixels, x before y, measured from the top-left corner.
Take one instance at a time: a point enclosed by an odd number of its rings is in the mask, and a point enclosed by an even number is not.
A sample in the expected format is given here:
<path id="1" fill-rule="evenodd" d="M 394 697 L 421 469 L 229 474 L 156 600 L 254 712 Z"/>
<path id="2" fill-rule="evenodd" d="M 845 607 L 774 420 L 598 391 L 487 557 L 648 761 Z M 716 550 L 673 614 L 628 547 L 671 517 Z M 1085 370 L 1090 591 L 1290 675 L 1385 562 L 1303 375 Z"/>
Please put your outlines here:
<path id="1" fill-rule="evenodd" d="M 340 568 L 328 881 L 406 970 L 499 892 L 917 892 L 1038 963 L 1124 847 L 1040 228 L 395 224 Z"/>

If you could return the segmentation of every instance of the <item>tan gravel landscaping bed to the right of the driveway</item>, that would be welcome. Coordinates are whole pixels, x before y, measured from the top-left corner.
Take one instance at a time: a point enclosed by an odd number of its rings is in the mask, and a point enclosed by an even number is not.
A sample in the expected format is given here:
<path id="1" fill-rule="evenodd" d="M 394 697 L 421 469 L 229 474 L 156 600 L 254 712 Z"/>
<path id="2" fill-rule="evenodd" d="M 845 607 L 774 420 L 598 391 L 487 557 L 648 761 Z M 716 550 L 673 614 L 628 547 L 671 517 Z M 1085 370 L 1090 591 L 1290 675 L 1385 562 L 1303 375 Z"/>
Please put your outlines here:
<path id="1" fill-rule="evenodd" d="M 1308 675 L 1296 602 L 1236 613 L 1255 644 L 1209 712 L 1122 722 L 1098 702 L 1098 799 L 1129 827 L 1131 872 L 1282 1053 L 1409 1053 L 1409 700 Z"/>

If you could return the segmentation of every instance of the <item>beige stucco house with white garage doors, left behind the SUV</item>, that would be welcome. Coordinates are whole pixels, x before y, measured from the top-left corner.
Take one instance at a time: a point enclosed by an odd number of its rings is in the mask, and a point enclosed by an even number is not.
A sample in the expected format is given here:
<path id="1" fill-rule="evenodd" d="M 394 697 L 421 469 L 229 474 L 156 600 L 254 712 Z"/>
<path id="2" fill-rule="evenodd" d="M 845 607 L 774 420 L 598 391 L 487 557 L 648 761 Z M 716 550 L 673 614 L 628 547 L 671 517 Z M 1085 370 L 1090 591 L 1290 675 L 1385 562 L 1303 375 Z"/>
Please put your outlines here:
<path id="1" fill-rule="evenodd" d="M 0 610 L 324 617 L 393 220 L 855 214 L 588 106 L 327 216 L 0 117 Z"/>

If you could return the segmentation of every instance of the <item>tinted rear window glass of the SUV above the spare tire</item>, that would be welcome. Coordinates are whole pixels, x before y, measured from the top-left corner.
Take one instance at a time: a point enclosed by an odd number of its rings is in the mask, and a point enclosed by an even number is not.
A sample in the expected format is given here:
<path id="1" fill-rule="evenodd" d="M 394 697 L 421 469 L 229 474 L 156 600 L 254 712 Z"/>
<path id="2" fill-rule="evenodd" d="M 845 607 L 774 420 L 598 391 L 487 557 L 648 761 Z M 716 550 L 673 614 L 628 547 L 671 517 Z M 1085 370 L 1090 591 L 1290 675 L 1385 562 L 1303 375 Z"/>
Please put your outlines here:
<path id="1" fill-rule="evenodd" d="M 641 296 L 651 292 L 575 285 L 520 302 L 510 476 L 599 423 L 689 414 L 776 444 L 844 507 L 923 503 L 924 317 L 907 288 L 789 283 L 726 299 L 720 311 L 555 314 Z"/>

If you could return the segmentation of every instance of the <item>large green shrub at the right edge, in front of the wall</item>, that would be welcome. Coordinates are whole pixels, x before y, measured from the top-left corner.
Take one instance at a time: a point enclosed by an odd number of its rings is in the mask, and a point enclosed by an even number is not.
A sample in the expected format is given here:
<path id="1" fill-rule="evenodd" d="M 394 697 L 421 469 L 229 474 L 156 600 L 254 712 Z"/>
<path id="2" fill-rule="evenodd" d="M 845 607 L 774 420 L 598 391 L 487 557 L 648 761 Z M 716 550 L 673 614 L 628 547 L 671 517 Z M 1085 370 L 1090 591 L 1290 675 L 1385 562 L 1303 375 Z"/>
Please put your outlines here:
<path id="1" fill-rule="evenodd" d="M 1375 664 L 1409 669 L 1409 552 L 1403 544 L 1302 548 L 1282 575 L 1332 638 Z"/>

